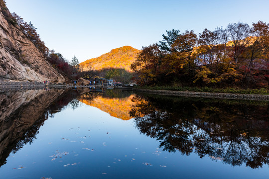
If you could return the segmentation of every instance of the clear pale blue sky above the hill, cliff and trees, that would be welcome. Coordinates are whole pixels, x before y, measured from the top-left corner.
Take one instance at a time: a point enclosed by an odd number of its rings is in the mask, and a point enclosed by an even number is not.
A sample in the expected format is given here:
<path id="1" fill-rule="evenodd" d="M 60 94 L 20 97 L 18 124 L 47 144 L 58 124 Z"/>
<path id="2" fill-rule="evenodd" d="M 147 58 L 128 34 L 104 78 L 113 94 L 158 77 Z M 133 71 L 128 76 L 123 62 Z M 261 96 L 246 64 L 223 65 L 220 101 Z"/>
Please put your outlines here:
<path id="1" fill-rule="evenodd" d="M 269 23 L 269 0 L 5 0 L 31 21 L 46 46 L 80 62 L 125 45 L 141 49 L 166 30 L 227 27 L 239 21 Z"/>

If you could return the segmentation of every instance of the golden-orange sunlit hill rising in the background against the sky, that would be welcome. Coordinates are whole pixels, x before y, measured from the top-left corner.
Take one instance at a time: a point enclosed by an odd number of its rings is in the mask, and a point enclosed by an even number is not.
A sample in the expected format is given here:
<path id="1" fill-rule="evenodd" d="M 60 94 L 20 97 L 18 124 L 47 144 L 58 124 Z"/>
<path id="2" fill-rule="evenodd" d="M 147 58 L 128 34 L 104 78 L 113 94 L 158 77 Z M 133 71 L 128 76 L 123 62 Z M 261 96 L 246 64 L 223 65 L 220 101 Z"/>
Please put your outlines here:
<path id="1" fill-rule="evenodd" d="M 139 50 L 131 46 L 123 46 L 111 50 L 109 53 L 101 55 L 100 57 L 86 60 L 80 63 L 83 71 L 102 70 L 104 68 L 124 68 L 131 71 L 130 65 L 134 62 Z"/>

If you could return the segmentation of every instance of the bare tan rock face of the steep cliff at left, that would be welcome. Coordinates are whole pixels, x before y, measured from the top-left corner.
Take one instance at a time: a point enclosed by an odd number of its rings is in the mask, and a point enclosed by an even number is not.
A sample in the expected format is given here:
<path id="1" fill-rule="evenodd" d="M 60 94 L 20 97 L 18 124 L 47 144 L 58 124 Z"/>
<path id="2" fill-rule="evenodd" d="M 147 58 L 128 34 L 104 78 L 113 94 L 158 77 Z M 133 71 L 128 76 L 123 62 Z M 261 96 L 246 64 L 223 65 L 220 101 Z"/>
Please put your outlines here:
<path id="1" fill-rule="evenodd" d="M 65 82 L 11 18 L 8 9 L 0 7 L 0 81 Z"/>

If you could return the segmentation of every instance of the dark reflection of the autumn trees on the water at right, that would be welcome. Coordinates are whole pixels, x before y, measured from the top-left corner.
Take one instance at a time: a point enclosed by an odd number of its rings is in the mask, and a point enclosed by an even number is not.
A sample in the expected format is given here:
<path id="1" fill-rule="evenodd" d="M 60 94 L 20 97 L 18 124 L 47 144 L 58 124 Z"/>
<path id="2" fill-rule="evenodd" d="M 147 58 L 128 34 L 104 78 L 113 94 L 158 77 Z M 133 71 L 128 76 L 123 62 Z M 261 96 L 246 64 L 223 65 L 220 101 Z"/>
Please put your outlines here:
<path id="1" fill-rule="evenodd" d="M 133 100 L 136 127 L 165 151 L 195 152 L 232 166 L 269 164 L 268 102 L 152 95 Z"/>

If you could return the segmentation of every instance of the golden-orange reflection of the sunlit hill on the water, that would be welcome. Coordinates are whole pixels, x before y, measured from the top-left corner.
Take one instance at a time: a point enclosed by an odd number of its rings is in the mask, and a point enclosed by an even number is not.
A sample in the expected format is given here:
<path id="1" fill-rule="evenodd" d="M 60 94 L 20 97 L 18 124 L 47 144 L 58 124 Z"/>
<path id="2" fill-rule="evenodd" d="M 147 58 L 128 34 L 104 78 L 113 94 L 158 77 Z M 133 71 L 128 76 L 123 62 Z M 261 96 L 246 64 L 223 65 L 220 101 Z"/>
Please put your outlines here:
<path id="1" fill-rule="evenodd" d="M 103 96 L 97 96 L 93 100 L 80 99 L 81 102 L 97 107 L 100 110 L 109 113 L 113 117 L 120 118 L 122 120 L 131 119 L 129 111 L 132 109 L 134 102 L 132 98 L 134 95 L 130 95 L 125 98 L 107 98 Z"/>

